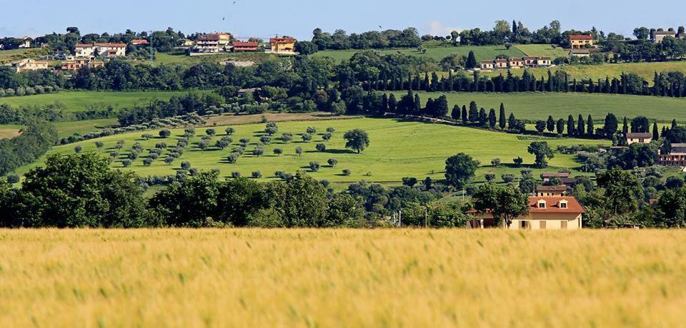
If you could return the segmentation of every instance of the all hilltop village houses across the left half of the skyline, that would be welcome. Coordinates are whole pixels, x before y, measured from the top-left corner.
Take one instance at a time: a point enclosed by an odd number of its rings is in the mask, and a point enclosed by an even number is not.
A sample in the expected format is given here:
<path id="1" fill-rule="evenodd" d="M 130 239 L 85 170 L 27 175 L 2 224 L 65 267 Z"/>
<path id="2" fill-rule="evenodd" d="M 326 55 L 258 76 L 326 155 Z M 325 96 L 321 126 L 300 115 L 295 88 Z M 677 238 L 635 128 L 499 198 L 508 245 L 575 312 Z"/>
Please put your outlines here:
<path id="1" fill-rule="evenodd" d="M 22 38 L 19 48 L 31 48 L 31 39 L 28 36 Z M 229 33 L 214 32 L 197 36 L 196 40 L 185 39 L 182 46 L 177 50 L 187 51 L 189 56 L 212 55 L 217 53 L 244 53 L 244 52 L 264 52 L 274 53 L 279 56 L 297 55 L 295 49 L 296 39 L 283 36 L 269 39 L 269 43 L 264 44 L 257 39 L 239 41 Z M 129 43 L 136 47 L 146 47 L 150 45 L 148 39 L 134 39 Z M 76 43 L 74 53 L 59 53 L 54 59 L 61 61 L 59 69 L 61 71 L 79 71 L 83 67 L 97 68 L 104 66 L 107 58 L 117 58 L 126 56 L 127 43 Z M 46 47 L 45 44 L 40 45 Z M 1 50 L 1 48 L 0 48 Z M 17 73 L 22 71 L 37 71 L 50 69 L 49 61 L 26 58 L 21 61 L 10 63 Z"/>

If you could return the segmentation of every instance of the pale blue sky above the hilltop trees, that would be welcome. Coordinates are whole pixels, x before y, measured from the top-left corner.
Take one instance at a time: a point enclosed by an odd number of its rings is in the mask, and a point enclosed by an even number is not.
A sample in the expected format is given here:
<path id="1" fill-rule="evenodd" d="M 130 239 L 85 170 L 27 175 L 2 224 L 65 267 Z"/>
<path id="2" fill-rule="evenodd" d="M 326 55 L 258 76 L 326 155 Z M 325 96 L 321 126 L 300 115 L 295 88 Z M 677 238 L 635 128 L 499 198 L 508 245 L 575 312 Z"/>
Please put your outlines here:
<path id="1" fill-rule="evenodd" d="M 656 9 L 624 1 L 459 1 L 459 0 L 0 0 L 0 37 L 41 36 L 77 26 L 81 34 L 164 30 L 186 34 L 227 31 L 234 36 L 312 38 L 319 27 L 348 33 L 412 26 L 420 34 L 447 35 L 452 30 L 492 29 L 494 21 L 522 21 L 530 31 L 559 20 L 562 29 L 631 36 L 637 26 L 686 25 L 686 2 L 663 0 Z M 517 8 L 513 8 L 517 6 Z M 12 14 L 16 13 L 16 14 Z"/>

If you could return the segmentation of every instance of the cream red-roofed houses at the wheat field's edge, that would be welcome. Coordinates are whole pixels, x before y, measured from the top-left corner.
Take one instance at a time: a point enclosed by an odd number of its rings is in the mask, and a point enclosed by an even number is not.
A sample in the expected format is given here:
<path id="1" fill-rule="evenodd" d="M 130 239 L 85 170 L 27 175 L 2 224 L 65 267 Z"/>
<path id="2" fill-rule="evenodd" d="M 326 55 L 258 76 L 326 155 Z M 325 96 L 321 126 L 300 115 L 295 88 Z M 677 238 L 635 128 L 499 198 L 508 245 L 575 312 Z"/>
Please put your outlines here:
<path id="1" fill-rule="evenodd" d="M 570 173 L 543 173 L 541 178 L 549 182 L 553 178 L 562 181 L 562 185 L 539 185 L 536 195 L 528 198 L 529 211 L 512 220 L 507 227 L 504 222 L 498 225 L 493 213 L 489 210 L 478 212 L 469 210 L 472 220 L 467 222 L 470 229 L 502 227 L 509 230 L 578 230 L 582 228 L 584 207 L 579 201 L 567 195 L 567 190 L 576 182 Z"/>

